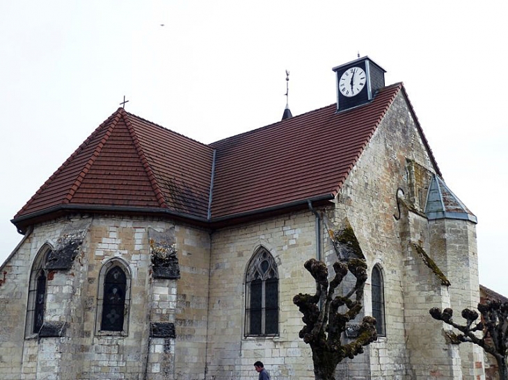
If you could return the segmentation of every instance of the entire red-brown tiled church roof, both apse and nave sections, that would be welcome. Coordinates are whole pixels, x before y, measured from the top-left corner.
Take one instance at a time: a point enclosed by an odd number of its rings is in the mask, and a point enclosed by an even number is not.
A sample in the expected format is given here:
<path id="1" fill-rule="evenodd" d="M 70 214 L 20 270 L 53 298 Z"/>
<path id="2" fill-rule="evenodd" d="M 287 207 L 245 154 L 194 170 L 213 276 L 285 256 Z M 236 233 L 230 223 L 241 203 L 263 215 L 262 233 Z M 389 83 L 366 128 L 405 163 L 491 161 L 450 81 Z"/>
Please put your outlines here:
<path id="1" fill-rule="evenodd" d="M 331 200 L 401 90 L 407 100 L 397 83 L 364 106 L 337 113 L 332 104 L 210 145 L 119 108 L 13 223 L 23 231 L 79 211 L 170 214 L 209 224 Z M 439 172 L 418 121 L 417 127 Z"/>

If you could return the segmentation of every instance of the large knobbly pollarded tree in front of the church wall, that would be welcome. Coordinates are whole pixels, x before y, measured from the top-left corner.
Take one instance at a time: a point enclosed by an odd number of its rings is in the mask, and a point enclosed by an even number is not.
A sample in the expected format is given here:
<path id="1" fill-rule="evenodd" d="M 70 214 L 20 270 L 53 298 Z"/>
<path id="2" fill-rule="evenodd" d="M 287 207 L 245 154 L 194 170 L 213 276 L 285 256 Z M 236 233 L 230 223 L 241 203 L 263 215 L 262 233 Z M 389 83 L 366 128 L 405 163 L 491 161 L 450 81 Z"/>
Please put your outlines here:
<path id="1" fill-rule="evenodd" d="M 335 380 L 335 367 L 340 361 L 363 353 L 363 346 L 377 339 L 376 320 L 374 317 L 363 317 L 357 338 L 347 344 L 342 343 L 342 334 L 346 331 L 348 322 L 354 320 L 363 307 L 367 264 L 361 251 L 358 251 L 358 240 L 351 226 L 348 225 L 338 233 L 331 233 L 331 238 L 340 259 L 333 264 L 334 278 L 328 282 L 328 268 L 325 263 L 311 258 L 305 262 L 304 267 L 315 279 L 315 295 L 300 293 L 293 299 L 303 313 L 305 326 L 299 336 L 312 349 L 316 380 Z M 356 250 L 357 257 L 347 254 L 348 257 L 342 256 L 341 260 L 341 253 L 347 253 L 351 249 Z M 354 286 L 346 295 L 335 295 L 335 289 L 348 272 L 356 277 Z"/>

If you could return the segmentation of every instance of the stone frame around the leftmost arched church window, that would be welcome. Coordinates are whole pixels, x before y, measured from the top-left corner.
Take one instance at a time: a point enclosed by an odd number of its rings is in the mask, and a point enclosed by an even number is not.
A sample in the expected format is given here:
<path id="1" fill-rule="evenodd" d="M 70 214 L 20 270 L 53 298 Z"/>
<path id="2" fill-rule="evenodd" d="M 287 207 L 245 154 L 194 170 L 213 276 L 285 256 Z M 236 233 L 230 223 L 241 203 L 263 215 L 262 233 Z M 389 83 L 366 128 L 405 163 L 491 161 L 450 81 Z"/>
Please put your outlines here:
<path id="1" fill-rule="evenodd" d="M 49 243 L 45 243 L 39 249 L 38 253 L 35 255 L 33 259 L 32 267 L 30 270 L 29 276 L 29 286 L 28 286 L 28 296 L 26 301 L 26 319 L 25 319 L 25 338 L 36 338 L 39 334 L 38 331 L 34 331 L 35 329 L 35 301 L 37 296 L 37 288 L 38 288 L 38 279 L 42 272 L 45 275 L 45 299 L 44 299 L 44 309 L 46 308 L 47 301 L 47 277 L 48 271 L 46 269 L 46 260 L 48 254 L 53 251 L 53 247 Z M 44 312 L 43 312 L 44 313 Z M 44 322 L 44 320 L 42 321 Z"/>

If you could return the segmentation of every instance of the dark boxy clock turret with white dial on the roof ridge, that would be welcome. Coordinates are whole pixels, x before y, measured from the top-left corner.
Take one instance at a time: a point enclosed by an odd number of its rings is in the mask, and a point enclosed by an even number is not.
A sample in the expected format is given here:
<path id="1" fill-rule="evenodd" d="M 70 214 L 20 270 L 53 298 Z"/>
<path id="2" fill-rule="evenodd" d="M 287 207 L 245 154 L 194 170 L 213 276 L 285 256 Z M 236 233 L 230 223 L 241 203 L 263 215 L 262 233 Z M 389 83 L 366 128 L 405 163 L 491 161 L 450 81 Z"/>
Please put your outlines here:
<path id="1" fill-rule="evenodd" d="M 385 70 L 369 57 L 333 67 L 337 74 L 337 111 L 368 103 L 385 86 Z"/>

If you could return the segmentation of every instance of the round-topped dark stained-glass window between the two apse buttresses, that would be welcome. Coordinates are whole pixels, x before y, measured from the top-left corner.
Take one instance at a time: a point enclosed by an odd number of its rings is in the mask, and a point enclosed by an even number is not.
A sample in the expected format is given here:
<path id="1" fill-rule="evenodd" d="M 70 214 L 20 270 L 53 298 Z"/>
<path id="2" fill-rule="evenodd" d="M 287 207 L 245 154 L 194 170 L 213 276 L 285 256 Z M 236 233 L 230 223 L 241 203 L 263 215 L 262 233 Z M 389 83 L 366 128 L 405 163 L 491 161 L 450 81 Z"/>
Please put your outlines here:
<path id="1" fill-rule="evenodd" d="M 130 302 L 130 275 L 120 259 L 108 261 L 99 276 L 97 335 L 127 335 Z"/>

